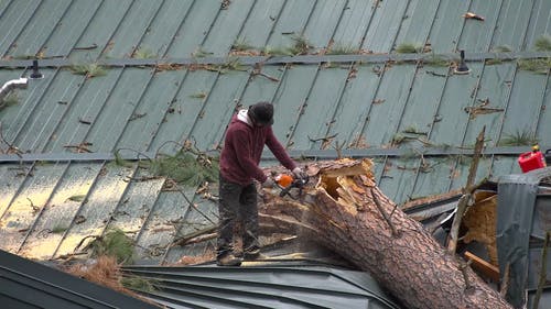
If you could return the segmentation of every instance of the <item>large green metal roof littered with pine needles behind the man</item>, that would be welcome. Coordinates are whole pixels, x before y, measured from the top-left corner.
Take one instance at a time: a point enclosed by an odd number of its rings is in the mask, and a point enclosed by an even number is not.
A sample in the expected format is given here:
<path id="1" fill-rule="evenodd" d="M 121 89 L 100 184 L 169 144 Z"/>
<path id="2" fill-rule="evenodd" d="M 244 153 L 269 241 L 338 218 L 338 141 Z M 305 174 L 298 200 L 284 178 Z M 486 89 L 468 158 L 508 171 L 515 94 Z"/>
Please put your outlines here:
<path id="1" fill-rule="evenodd" d="M 171 244 L 213 227 L 215 202 L 138 159 L 186 141 L 215 151 L 236 109 L 260 100 L 294 157 L 372 157 L 397 203 L 464 186 L 483 128 L 477 178 L 520 173 L 533 141 L 551 147 L 550 55 L 537 44 L 550 11 L 547 0 L 1 1 L 0 81 L 29 76 L 35 58 L 44 78 L 0 110 L 0 247 L 55 258 L 119 228 L 153 264 L 199 254 Z M 468 75 L 453 74 L 460 49 Z"/>

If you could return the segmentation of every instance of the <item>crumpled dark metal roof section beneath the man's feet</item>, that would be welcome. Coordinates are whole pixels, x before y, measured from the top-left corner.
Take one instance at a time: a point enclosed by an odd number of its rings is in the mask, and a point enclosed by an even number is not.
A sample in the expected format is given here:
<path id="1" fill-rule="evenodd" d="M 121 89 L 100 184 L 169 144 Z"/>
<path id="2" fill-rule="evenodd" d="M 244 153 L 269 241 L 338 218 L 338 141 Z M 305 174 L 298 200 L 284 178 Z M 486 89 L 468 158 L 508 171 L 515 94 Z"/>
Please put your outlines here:
<path id="1" fill-rule="evenodd" d="M 325 266 L 127 267 L 159 288 L 148 298 L 172 308 L 398 309 L 364 272 Z"/>

